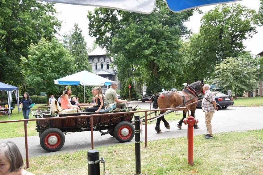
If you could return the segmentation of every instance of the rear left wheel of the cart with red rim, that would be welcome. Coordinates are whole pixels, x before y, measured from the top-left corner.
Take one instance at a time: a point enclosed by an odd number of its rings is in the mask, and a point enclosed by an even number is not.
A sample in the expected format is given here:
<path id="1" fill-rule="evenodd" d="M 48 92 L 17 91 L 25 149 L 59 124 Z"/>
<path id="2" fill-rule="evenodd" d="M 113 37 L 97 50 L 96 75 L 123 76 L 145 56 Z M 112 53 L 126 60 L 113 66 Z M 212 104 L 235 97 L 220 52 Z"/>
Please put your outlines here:
<path id="1" fill-rule="evenodd" d="M 40 145 L 47 152 L 60 150 L 64 143 L 65 135 L 57 128 L 48 128 L 40 136 Z"/>

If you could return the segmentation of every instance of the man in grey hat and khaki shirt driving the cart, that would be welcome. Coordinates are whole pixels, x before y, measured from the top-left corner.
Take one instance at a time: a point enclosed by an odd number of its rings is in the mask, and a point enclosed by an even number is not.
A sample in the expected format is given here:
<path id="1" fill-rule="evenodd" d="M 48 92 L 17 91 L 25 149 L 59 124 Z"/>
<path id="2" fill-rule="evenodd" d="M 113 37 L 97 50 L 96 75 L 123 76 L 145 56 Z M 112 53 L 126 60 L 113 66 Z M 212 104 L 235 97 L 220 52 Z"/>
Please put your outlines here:
<path id="1" fill-rule="evenodd" d="M 117 83 L 116 82 L 111 82 L 111 87 L 106 90 L 105 95 L 104 95 L 104 102 L 106 106 L 109 106 L 111 103 L 116 102 L 116 108 L 125 108 L 126 107 L 126 102 L 127 100 L 119 100 L 116 89 L 117 89 Z"/>

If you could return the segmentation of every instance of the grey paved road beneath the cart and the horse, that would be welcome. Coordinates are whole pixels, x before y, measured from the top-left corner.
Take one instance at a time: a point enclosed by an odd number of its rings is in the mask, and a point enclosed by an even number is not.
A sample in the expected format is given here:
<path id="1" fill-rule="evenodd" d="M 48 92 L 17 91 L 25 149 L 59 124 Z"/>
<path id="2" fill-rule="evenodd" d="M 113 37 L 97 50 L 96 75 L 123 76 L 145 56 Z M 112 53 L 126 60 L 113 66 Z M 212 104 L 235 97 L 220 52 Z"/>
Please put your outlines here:
<path id="1" fill-rule="evenodd" d="M 145 104 L 132 104 L 138 105 L 141 109 L 149 109 L 149 103 Z M 199 129 L 194 129 L 194 135 L 206 134 L 206 126 L 204 113 L 202 109 L 196 109 L 196 118 L 198 118 Z M 182 129 L 177 128 L 177 122 L 169 122 L 171 129 L 166 129 L 163 122 L 161 122 L 160 129 L 162 130 L 161 134 L 156 133 L 154 130 L 155 125 L 148 125 L 147 141 L 157 140 L 162 138 L 173 138 L 173 137 L 182 137 L 187 136 L 187 125 L 182 125 Z M 216 137 L 216 133 L 219 132 L 230 132 L 230 131 L 244 131 L 252 129 L 263 129 L 263 120 L 262 120 L 262 107 L 228 107 L 227 109 L 222 109 L 216 111 L 212 119 L 213 133 Z M 145 131 L 143 126 L 143 131 Z M 48 153 L 40 146 L 40 141 L 38 136 L 28 137 L 28 148 L 29 148 L 29 157 L 38 157 L 42 155 L 53 155 L 57 153 L 68 153 L 75 152 L 77 150 L 90 150 L 90 131 L 79 132 L 65 135 L 65 145 L 57 152 Z M 143 133 L 143 140 L 144 140 Z M 134 142 L 134 138 L 131 142 Z M 1 139 L 3 141 L 14 141 L 19 145 L 19 149 L 25 158 L 25 139 L 24 137 L 18 138 L 9 138 Z M 101 136 L 99 132 L 94 132 L 94 149 L 100 146 L 108 146 L 114 144 L 127 144 L 120 143 L 111 137 L 109 134 Z M 142 143 L 144 144 L 144 142 Z"/>

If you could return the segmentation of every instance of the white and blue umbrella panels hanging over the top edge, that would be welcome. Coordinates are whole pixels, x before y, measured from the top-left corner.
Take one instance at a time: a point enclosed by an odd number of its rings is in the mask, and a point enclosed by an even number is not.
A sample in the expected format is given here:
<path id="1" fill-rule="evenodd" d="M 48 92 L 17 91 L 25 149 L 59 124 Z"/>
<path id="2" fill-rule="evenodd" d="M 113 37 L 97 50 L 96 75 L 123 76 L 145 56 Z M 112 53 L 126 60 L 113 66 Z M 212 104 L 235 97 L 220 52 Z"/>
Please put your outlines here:
<path id="1" fill-rule="evenodd" d="M 96 6 L 111 9 L 118 9 L 130 12 L 150 14 L 153 12 L 156 0 L 44 0 L 46 2 L 56 2 L 74 4 L 82 6 Z M 173 12 L 182 12 L 202 6 L 223 4 L 241 0 L 165 0 L 169 9 Z"/>

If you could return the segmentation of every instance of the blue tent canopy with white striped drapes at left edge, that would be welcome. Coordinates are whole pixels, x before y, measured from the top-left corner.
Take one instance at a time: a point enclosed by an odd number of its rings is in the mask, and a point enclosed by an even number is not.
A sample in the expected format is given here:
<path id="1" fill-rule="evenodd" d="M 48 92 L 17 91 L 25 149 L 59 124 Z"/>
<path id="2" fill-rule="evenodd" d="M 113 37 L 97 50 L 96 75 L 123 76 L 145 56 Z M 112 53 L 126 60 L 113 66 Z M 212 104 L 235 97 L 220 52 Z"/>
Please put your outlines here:
<path id="1" fill-rule="evenodd" d="M 8 84 L 5 84 L 5 83 L 0 82 L 0 90 L 5 90 L 5 91 L 7 91 L 8 106 L 9 106 L 9 116 L 8 116 L 8 119 L 10 119 L 10 107 L 11 107 L 11 103 L 12 103 L 12 94 L 13 94 L 13 91 L 15 92 L 16 102 L 17 102 L 17 106 L 18 106 L 18 108 L 19 108 L 19 91 L 18 91 L 18 87 L 12 86 L 12 85 L 8 85 Z M 18 111 L 18 112 L 19 112 L 19 111 Z"/>

